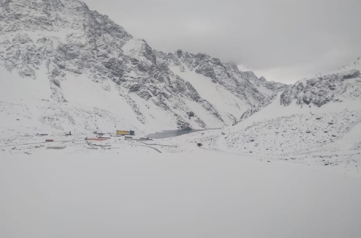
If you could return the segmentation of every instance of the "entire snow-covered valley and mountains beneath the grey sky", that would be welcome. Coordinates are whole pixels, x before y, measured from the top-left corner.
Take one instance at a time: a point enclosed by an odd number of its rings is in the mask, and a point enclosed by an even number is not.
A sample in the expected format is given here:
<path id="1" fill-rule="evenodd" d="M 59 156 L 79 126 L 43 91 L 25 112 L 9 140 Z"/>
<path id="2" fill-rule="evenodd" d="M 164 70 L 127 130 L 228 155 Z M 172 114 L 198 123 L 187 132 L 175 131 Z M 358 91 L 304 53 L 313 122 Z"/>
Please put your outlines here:
<path id="1" fill-rule="evenodd" d="M 358 238 L 360 70 L 286 85 L 0 0 L 0 237 Z"/>

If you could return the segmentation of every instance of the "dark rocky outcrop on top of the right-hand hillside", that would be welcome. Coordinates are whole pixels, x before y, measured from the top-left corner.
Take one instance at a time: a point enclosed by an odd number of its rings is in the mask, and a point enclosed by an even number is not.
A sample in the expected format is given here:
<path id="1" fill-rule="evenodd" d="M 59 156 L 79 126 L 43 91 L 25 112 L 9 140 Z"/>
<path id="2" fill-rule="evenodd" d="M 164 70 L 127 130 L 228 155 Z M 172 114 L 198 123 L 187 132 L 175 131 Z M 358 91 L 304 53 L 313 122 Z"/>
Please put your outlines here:
<path id="1" fill-rule="evenodd" d="M 280 103 L 288 106 L 296 100 L 297 104 L 321 107 L 328 102 L 340 100 L 340 96 L 357 98 L 361 89 L 360 76 L 360 71 L 353 69 L 296 82 L 281 94 Z"/>

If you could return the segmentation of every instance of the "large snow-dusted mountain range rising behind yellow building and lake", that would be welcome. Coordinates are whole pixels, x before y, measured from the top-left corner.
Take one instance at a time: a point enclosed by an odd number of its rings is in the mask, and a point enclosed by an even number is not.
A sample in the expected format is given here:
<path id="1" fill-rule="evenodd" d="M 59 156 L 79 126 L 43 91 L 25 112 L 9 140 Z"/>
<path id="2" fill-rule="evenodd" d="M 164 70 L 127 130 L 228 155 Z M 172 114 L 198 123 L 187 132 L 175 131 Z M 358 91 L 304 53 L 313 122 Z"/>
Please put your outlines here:
<path id="1" fill-rule="evenodd" d="M 206 54 L 153 50 L 77 0 L 0 0 L 0 71 L 2 116 L 18 107 L 29 130 L 221 127 L 284 87 Z"/>

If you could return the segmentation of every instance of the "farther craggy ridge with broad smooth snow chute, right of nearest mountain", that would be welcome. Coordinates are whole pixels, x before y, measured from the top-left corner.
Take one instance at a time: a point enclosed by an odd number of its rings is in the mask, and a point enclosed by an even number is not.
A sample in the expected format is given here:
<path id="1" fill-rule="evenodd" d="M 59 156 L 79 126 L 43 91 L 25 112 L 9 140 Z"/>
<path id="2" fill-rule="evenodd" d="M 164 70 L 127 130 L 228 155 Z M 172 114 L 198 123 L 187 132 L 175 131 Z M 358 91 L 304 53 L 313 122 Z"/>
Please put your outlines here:
<path id="1" fill-rule="evenodd" d="M 239 71 L 232 63 L 222 63 L 207 54 L 154 51 L 157 62 L 165 64 L 175 74 L 188 81 L 217 109 L 226 125 L 234 125 L 249 109 L 268 105 L 274 94 L 286 85 L 257 78 L 253 72 Z"/>

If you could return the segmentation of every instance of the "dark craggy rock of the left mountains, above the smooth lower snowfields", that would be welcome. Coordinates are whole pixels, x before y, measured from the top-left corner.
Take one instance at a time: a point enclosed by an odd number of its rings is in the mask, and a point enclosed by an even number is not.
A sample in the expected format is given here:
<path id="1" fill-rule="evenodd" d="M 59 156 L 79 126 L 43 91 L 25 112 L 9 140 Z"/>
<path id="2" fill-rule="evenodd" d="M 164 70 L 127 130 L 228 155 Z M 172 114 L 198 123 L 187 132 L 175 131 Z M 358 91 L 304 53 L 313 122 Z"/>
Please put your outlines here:
<path id="1" fill-rule="evenodd" d="M 173 118 L 170 126 L 182 129 L 209 127 L 204 122 L 209 117 L 214 121 L 212 125 L 218 126 L 237 120 L 232 113 L 219 113 L 219 107 L 170 70 L 170 66 L 177 65 L 210 78 L 240 98 L 244 102 L 236 109 L 240 113 L 269 96 L 258 91 L 247 73 L 209 55 L 153 50 L 145 40 L 134 39 L 106 15 L 89 10 L 81 1 L 1 0 L 0 6 L 0 66 L 34 80 L 45 66 L 53 102 L 68 103 L 64 81 L 86 75 L 104 90 L 119 91 L 144 126 L 157 117 L 142 109 L 151 108 L 149 104 Z M 114 84 L 109 86 L 108 80 Z M 188 102 L 203 109 L 195 111 Z"/>

